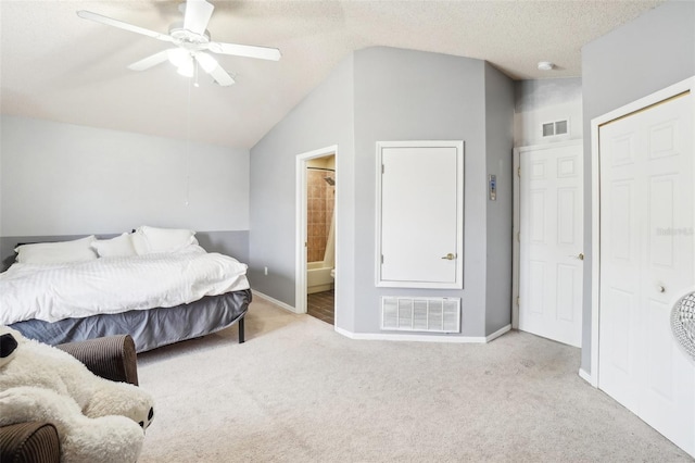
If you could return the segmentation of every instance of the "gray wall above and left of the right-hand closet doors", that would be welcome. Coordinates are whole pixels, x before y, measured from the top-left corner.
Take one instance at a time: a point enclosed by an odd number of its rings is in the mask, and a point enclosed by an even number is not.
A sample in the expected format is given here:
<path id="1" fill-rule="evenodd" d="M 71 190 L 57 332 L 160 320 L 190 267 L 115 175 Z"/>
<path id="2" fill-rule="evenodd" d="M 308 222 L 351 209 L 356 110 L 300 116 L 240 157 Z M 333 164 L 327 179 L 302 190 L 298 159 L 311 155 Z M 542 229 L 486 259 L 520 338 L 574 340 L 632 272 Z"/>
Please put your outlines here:
<path id="1" fill-rule="evenodd" d="M 581 367 L 591 365 L 591 120 L 695 75 L 695 2 L 671 1 L 582 49 L 584 316 Z"/>

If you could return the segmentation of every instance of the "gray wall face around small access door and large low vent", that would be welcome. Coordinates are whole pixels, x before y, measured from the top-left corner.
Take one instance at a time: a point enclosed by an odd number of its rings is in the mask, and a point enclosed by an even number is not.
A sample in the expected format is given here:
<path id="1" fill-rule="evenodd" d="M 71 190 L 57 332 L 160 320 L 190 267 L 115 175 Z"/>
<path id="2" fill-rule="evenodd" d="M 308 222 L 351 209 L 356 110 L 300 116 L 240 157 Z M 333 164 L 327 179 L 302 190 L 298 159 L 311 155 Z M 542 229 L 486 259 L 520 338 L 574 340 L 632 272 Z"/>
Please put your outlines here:
<path id="1" fill-rule="evenodd" d="M 485 327 L 484 62 L 392 48 L 355 53 L 356 316 L 358 333 L 380 333 L 381 296 L 462 299 L 462 334 Z M 511 110 L 510 110 L 511 112 Z M 464 290 L 377 288 L 376 142 L 464 140 Z"/>

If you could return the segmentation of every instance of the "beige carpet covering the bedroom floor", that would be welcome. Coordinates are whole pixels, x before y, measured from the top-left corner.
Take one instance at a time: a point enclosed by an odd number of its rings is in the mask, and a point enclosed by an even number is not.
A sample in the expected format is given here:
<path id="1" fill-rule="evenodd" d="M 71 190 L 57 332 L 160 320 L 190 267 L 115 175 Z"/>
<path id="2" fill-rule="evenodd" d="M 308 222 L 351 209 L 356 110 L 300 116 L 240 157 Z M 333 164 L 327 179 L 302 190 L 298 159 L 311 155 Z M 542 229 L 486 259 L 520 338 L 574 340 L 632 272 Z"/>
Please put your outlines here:
<path id="1" fill-rule="evenodd" d="M 579 349 L 357 341 L 256 298 L 237 328 L 139 356 L 140 462 L 692 461 L 577 372 Z"/>

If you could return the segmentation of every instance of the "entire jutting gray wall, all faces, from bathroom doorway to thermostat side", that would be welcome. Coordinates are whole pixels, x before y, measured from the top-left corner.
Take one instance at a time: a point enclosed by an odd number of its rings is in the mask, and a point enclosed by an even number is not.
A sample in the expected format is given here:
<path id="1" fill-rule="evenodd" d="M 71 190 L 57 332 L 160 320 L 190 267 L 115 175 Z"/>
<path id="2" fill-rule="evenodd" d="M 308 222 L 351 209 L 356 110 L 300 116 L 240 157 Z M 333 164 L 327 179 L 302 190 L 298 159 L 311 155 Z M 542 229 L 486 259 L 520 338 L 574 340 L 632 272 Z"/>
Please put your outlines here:
<path id="1" fill-rule="evenodd" d="M 497 111 L 504 115 L 494 115 Z M 380 333 L 380 297 L 386 295 L 462 298 L 459 336 L 484 336 L 508 324 L 513 116 L 511 82 L 483 61 L 384 47 L 355 52 L 251 150 L 252 286 L 294 305 L 295 157 L 338 143 L 337 326 Z M 466 142 L 464 290 L 375 286 L 376 142 L 422 139 Z M 490 163 L 488 142 L 495 151 Z M 501 201 L 490 207 L 495 227 L 490 235 L 489 164 L 502 173 Z M 494 284 L 505 288 L 490 302 L 489 261 Z"/>

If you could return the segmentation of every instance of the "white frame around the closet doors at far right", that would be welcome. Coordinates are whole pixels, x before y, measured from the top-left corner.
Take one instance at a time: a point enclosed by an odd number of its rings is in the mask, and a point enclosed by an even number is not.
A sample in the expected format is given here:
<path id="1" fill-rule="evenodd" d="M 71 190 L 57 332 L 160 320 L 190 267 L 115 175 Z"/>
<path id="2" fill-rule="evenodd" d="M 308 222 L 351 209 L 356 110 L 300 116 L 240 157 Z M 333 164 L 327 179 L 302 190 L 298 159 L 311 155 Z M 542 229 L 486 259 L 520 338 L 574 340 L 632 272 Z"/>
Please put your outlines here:
<path id="1" fill-rule="evenodd" d="M 682 93 L 691 92 L 695 95 L 695 77 L 688 77 L 661 90 L 658 90 L 652 95 L 640 98 L 631 103 L 620 107 L 614 111 L 610 111 L 598 117 L 594 117 L 591 121 L 591 162 L 592 162 L 592 267 L 591 267 L 591 373 L 586 376 L 589 383 L 598 388 L 598 349 L 601 349 L 598 342 L 598 329 L 599 329 L 599 316 L 601 316 L 601 150 L 599 150 L 599 135 L 601 126 L 608 124 L 620 117 L 629 116 L 630 114 L 643 111 L 659 104 L 660 102 L 670 98 L 677 97 Z M 694 105 L 695 105 L 695 98 Z M 695 108 L 694 108 L 695 110 Z M 691 134 L 695 138 L 695 130 Z M 695 165 L 695 163 L 694 163 Z M 695 168 L 694 168 L 695 170 Z M 695 178 L 695 172 L 693 172 L 693 178 Z M 694 255 L 695 258 L 695 255 Z"/>

